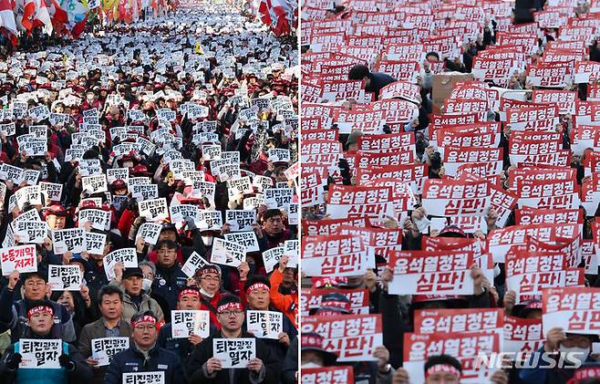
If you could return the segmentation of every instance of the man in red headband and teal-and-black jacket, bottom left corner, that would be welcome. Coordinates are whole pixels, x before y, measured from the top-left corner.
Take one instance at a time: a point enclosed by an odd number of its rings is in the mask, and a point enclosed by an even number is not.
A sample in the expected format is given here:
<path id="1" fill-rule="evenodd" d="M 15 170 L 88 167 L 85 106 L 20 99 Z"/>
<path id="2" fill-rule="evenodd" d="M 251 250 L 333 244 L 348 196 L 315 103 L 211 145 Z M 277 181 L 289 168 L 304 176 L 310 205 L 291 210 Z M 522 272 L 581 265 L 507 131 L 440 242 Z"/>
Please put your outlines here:
<path id="1" fill-rule="evenodd" d="M 57 339 L 60 338 L 60 326 L 54 324 L 54 306 L 47 300 L 32 300 L 27 306 L 26 318 L 29 327 L 22 338 Z M 3 383 L 81 383 L 92 379 L 91 368 L 78 349 L 62 342 L 62 354 L 58 357 L 60 368 L 19 368 L 23 357 L 19 350 L 19 341 L 5 351 L 0 364 L 0 378 Z"/>

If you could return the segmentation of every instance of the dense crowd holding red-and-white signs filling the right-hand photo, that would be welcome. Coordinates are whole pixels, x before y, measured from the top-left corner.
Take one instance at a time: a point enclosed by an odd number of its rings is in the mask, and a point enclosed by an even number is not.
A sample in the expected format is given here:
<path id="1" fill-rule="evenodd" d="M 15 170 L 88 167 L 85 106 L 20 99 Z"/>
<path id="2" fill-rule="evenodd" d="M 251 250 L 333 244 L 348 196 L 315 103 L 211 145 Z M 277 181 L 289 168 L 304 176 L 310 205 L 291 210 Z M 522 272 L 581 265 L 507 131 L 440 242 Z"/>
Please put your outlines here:
<path id="1" fill-rule="evenodd" d="M 600 7 L 526 3 L 303 5 L 302 382 L 600 382 Z"/>

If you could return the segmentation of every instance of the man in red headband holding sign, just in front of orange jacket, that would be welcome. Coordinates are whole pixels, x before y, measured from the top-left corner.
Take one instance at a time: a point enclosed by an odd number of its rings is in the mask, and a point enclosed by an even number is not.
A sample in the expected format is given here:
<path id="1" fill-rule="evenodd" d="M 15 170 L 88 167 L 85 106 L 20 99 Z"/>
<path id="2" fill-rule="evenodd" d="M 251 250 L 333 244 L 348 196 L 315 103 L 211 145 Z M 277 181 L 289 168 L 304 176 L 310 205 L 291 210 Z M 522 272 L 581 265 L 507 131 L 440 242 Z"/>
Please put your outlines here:
<path id="1" fill-rule="evenodd" d="M 262 275 L 254 275 L 246 281 L 245 292 L 248 306 L 246 309 L 255 311 L 274 311 L 269 300 L 269 291 L 271 284 L 269 279 Z M 246 319 L 247 321 L 247 319 Z M 246 329 L 246 324 L 244 324 Z M 283 317 L 282 332 L 278 335 L 279 339 L 262 338 L 264 344 L 271 350 L 271 355 L 278 363 L 283 363 L 287 348 L 290 347 L 291 339 L 298 334 L 290 319 Z M 258 337 L 258 335 L 255 335 Z"/>

